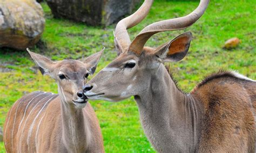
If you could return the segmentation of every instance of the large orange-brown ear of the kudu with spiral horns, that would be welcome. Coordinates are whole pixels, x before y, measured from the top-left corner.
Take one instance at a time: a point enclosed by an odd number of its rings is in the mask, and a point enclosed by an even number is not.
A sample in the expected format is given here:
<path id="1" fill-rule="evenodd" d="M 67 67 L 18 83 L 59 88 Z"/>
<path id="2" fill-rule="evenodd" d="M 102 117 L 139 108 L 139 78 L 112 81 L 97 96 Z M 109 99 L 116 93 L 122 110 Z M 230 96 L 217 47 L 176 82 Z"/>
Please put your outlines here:
<path id="1" fill-rule="evenodd" d="M 192 33 L 185 32 L 174 38 L 169 43 L 165 43 L 158 47 L 154 54 L 164 62 L 180 61 L 187 55 L 191 40 Z"/>

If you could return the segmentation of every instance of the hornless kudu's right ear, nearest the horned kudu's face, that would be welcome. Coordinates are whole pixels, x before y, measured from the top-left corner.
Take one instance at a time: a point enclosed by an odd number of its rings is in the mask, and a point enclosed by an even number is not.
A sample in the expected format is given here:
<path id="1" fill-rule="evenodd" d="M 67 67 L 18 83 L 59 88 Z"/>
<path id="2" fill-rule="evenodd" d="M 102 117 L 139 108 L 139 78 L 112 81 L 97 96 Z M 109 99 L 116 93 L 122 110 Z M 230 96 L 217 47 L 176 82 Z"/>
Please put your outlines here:
<path id="1" fill-rule="evenodd" d="M 104 51 L 105 47 L 102 48 L 102 50 L 100 50 L 100 52 L 92 54 L 91 56 L 87 57 L 84 60 L 84 63 L 89 65 L 89 72 L 91 75 L 94 74 L 96 68 L 97 68 L 97 64 L 99 62 L 100 57 L 102 56 L 102 53 Z"/>

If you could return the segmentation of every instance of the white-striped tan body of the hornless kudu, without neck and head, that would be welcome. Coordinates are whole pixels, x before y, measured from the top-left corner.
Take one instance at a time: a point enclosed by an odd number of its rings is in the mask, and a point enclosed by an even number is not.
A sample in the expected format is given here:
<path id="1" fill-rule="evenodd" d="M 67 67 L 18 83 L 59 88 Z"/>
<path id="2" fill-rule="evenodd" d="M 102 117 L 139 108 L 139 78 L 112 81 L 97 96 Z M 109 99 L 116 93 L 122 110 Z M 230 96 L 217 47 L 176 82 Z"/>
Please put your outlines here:
<path id="1" fill-rule="evenodd" d="M 29 104 L 29 101 L 36 96 L 38 97 Z M 51 100 L 48 101 L 49 99 Z M 46 104 L 47 101 L 48 103 Z M 32 92 L 17 100 L 8 112 L 4 124 L 6 152 L 68 152 L 64 149 L 62 141 L 62 109 L 60 104 L 58 94 L 40 91 Z M 44 105 L 45 107 L 43 108 Z M 28 108 L 26 109 L 27 106 Z M 34 107 L 35 109 L 33 109 Z M 42 111 L 39 113 L 41 109 Z M 36 118 L 37 114 L 39 115 Z M 87 103 L 83 108 L 83 115 L 87 125 L 90 125 L 88 130 L 92 133 L 90 145 L 86 150 L 95 152 L 96 148 L 101 148 L 98 152 L 104 152 L 99 123 L 90 103 Z M 34 120 L 34 126 L 32 127 Z M 28 138 L 31 127 L 31 136 Z M 83 134 L 81 136 L 86 137 Z M 82 148 L 81 150 L 84 149 Z"/>

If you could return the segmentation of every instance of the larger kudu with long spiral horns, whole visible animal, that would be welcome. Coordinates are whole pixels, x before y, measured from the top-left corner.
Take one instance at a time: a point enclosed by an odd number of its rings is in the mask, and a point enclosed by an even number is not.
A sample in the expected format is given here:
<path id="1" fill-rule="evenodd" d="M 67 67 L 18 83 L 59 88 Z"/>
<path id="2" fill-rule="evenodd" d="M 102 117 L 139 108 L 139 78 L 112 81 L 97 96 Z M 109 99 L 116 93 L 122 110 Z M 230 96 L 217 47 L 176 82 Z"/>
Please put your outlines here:
<path id="1" fill-rule="evenodd" d="M 209 3 L 185 17 L 146 26 L 131 42 L 127 28 L 137 25 L 153 0 L 145 0 L 114 31 L 118 57 L 84 86 L 89 99 L 120 101 L 134 96 L 145 134 L 158 152 L 254 152 L 256 82 L 220 71 L 191 93 L 179 90 L 163 62 L 185 57 L 191 32 L 154 49 L 144 47 L 153 34 L 191 26 Z"/>

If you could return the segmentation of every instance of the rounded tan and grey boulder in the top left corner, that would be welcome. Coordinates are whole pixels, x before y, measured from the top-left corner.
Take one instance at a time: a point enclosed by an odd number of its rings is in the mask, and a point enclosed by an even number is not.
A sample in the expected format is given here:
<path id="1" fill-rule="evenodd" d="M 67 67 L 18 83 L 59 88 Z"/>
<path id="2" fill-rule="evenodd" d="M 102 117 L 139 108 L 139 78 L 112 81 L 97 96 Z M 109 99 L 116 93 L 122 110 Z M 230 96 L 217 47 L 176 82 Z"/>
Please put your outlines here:
<path id="1" fill-rule="evenodd" d="M 0 47 L 32 47 L 44 24 L 43 9 L 35 0 L 0 0 Z"/>

